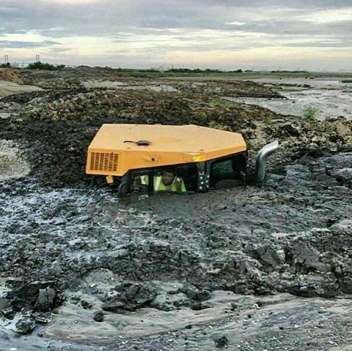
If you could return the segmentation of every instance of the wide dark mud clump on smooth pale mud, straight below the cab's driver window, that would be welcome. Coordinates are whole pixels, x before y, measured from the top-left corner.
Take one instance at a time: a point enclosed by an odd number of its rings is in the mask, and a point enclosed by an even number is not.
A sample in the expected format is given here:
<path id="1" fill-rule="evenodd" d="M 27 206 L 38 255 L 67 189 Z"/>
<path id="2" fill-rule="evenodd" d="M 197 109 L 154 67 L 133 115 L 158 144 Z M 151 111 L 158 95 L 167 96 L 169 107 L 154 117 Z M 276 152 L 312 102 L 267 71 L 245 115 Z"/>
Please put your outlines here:
<path id="1" fill-rule="evenodd" d="M 110 291 L 102 308 L 116 313 L 135 311 L 147 307 L 155 297 L 156 292 L 149 287 L 138 283 L 123 283 Z"/>

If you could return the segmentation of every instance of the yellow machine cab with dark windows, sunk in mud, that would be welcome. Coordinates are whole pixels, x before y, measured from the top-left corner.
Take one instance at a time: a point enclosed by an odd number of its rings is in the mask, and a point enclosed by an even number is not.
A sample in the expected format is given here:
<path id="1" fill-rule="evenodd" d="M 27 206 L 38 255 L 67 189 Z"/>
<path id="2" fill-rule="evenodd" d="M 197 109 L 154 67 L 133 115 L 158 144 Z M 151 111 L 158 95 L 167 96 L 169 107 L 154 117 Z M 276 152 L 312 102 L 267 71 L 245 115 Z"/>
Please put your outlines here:
<path id="1" fill-rule="evenodd" d="M 196 125 L 104 124 L 89 146 L 86 173 L 105 176 L 121 195 L 206 192 L 245 183 L 246 164 L 246 143 L 238 133 Z"/>

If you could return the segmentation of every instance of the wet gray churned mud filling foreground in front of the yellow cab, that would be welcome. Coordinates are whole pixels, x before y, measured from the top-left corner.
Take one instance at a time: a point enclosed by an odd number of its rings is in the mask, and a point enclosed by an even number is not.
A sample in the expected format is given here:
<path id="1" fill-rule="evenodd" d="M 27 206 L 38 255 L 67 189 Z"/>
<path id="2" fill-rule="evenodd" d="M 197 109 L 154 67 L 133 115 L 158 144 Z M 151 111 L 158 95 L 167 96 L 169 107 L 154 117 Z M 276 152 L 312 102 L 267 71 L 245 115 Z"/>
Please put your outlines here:
<path id="1" fill-rule="evenodd" d="M 191 196 L 3 182 L 0 348 L 350 345 L 351 188 L 351 152 Z"/>

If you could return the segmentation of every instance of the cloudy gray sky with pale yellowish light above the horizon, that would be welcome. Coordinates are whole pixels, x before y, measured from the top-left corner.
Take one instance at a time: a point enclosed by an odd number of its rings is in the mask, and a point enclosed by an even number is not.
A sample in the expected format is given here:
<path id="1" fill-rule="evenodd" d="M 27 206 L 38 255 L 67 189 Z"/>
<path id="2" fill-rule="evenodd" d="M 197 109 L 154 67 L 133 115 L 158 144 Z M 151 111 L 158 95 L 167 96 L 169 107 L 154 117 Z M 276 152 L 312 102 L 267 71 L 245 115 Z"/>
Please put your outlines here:
<path id="1" fill-rule="evenodd" d="M 0 59 L 352 71 L 352 0 L 0 0 Z"/>

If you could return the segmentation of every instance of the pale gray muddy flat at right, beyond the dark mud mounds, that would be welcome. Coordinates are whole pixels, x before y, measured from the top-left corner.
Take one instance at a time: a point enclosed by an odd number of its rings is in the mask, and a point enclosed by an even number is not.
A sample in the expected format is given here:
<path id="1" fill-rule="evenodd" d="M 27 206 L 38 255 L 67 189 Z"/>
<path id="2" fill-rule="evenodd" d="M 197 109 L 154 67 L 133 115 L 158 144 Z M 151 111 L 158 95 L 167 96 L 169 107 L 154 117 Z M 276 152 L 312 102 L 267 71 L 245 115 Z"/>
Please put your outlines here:
<path id="1" fill-rule="evenodd" d="M 324 79 L 253 79 L 273 85 L 285 99 L 266 98 L 225 98 L 240 103 L 259 105 L 283 115 L 304 118 L 309 107 L 317 109 L 316 118 L 336 118 L 343 116 L 352 119 L 352 84 L 339 80 Z M 283 84 L 288 84 L 285 86 Z M 303 87 L 308 84 L 309 87 Z"/>

